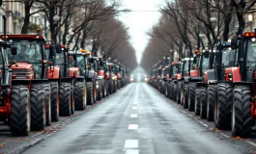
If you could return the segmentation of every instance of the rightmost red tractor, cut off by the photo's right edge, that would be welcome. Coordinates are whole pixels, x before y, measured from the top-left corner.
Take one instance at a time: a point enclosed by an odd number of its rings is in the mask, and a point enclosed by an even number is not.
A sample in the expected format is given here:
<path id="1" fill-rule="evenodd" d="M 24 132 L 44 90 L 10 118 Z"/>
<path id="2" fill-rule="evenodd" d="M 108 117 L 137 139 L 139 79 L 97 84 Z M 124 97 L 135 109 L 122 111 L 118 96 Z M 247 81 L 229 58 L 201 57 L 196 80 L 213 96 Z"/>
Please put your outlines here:
<path id="1" fill-rule="evenodd" d="M 231 97 L 229 101 L 227 93 L 221 94 L 217 99 L 218 109 L 231 112 L 231 116 L 226 118 L 231 118 L 233 136 L 247 137 L 251 135 L 256 116 L 256 29 L 255 32 L 244 32 L 239 38 L 233 38 L 231 48 L 238 50 L 238 58 L 234 67 L 225 69 L 224 77 L 225 81 L 230 82 L 233 99 Z"/>

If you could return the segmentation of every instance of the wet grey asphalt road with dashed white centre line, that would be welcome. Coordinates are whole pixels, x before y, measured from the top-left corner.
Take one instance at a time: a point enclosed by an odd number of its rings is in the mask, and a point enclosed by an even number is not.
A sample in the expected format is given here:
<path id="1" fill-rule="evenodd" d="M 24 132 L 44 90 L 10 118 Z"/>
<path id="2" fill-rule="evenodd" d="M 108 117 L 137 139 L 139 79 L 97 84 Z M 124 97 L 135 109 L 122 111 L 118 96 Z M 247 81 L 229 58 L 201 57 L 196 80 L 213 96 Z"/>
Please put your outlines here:
<path id="1" fill-rule="evenodd" d="M 71 118 L 24 154 L 236 154 L 256 152 L 188 116 L 146 83 L 129 84 L 97 107 Z M 65 122 L 63 122 L 65 123 Z M 47 134 L 31 137 L 42 139 Z M 36 139 L 35 139 L 36 138 Z M 1 139 L 1 136 L 0 136 Z M 32 140 L 31 139 L 31 140 Z M 0 144 L 1 148 L 1 144 Z M 18 153 L 18 151 L 16 151 Z"/>

